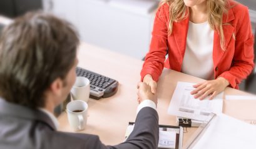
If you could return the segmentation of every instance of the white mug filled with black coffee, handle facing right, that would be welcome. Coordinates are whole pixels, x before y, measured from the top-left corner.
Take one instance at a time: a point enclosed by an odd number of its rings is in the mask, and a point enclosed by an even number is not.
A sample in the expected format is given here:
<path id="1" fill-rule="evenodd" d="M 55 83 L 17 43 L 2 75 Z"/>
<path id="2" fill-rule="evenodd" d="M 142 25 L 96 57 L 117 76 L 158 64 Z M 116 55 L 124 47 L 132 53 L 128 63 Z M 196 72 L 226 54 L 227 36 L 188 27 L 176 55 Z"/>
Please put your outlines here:
<path id="1" fill-rule="evenodd" d="M 66 107 L 68 121 L 74 131 L 84 130 L 87 123 L 88 104 L 82 100 L 73 100 Z"/>

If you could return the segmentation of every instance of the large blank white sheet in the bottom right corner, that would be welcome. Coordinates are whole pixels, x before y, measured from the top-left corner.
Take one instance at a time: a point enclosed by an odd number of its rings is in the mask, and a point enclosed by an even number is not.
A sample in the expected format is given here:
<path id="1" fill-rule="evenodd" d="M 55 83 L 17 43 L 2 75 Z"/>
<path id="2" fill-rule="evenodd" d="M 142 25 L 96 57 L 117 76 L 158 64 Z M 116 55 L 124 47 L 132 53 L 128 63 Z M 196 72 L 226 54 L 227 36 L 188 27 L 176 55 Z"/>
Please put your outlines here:
<path id="1" fill-rule="evenodd" d="M 256 148 L 256 126 L 222 113 L 210 122 L 193 149 Z"/>

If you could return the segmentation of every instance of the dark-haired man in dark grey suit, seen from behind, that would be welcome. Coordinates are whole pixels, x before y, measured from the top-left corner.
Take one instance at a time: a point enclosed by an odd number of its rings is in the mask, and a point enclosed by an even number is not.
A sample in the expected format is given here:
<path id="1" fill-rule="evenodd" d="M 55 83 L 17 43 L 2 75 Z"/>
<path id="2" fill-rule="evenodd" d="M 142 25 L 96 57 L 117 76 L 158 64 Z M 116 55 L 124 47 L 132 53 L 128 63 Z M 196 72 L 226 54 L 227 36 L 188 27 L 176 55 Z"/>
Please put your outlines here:
<path id="1" fill-rule="evenodd" d="M 76 79 L 79 39 L 66 21 L 29 13 L 0 39 L 0 148 L 156 148 L 158 114 L 150 87 L 138 84 L 138 115 L 130 137 L 105 146 L 98 136 L 56 131 L 54 107 Z M 110 134 L 111 137 L 111 134 Z"/>

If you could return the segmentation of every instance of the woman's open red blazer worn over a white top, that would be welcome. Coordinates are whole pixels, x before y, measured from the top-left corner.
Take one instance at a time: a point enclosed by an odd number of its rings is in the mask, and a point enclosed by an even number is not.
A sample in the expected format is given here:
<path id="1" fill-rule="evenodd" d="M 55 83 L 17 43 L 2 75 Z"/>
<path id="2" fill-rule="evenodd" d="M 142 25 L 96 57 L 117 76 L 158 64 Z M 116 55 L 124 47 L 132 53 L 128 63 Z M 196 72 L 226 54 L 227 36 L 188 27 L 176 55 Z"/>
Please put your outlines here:
<path id="1" fill-rule="evenodd" d="M 253 35 L 248 8 L 234 1 L 228 2 L 233 7 L 227 14 L 223 14 L 226 50 L 220 47 L 220 36 L 215 31 L 213 68 L 215 79 L 224 77 L 230 82 L 231 87 L 238 89 L 238 84 L 254 67 Z M 169 6 L 164 4 L 156 12 L 150 51 L 146 54 L 141 70 L 141 80 L 146 74 L 151 74 L 153 79 L 158 81 L 163 67 L 179 72 L 182 69 L 189 17 L 183 21 L 173 22 L 173 32 L 170 36 L 168 36 L 168 20 Z M 168 49 L 168 59 L 165 60 L 166 49 Z"/>

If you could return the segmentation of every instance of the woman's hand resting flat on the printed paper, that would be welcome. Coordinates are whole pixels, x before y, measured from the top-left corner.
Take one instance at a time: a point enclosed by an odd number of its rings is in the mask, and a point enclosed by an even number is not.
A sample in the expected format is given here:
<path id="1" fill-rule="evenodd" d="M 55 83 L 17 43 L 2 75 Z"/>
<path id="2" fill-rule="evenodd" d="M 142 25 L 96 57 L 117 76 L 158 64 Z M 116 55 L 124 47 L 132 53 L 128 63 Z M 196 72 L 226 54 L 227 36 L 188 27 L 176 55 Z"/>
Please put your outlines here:
<path id="1" fill-rule="evenodd" d="M 212 100 L 216 95 L 226 89 L 229 85 L 228 80 L 223 77 L 218 77 L 216 80 L 207 80 L 200 84 L 193 85 L 197 88 L 191 92 L 192 95 L 195 95 L 195 99 L 203 100 L 208 95 L 210 95 L 210 100 Z"/>

